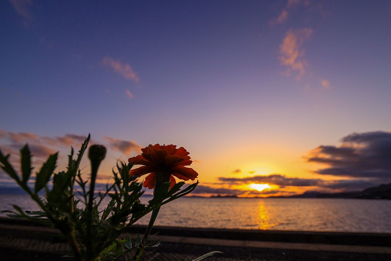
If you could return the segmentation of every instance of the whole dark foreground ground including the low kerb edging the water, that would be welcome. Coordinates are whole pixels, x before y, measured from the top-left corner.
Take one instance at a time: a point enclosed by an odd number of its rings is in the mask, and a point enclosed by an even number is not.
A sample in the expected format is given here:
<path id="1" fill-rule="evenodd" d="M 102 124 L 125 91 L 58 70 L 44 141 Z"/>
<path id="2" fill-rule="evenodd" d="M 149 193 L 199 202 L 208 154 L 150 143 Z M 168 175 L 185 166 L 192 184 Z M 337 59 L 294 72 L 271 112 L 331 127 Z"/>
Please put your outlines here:
<path id="1" fill-rule="evenodd" d="M 129 234 L 143 233 L 137 226 Z M 225 230 L 157 227 L 161 246 L 144 260 L 191 261 L 210 251 L 207 260 L 391 260 L 391 234 Z M 154 231 L 152 231 L 154 232 Z M 0 218 L 0 260 L 70 260 L 55 229 Z M 124 259 L 125 260 L 125 259 Z"/>

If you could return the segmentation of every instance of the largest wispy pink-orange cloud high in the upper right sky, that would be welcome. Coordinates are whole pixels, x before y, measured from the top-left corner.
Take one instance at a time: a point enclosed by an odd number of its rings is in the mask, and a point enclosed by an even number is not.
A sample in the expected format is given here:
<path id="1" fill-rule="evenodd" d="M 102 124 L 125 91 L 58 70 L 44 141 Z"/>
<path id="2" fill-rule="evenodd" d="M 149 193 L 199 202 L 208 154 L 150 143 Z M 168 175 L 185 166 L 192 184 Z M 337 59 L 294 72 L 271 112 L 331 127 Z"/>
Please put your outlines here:
<path id="1" fill-rule="evenodd" d="M 312 35 L 311 28 L 303 28 L 298 30 L 289 29 L 285 38 L 280 45 L 279 60 L 282 65 L 288 67 L 285 75 L 290 76 L 293 71 L 297 71 L 297 79 L 305 74 L 307 62 L 303 59 L 304 48 L 303 42 L 308 40 Z"/>

